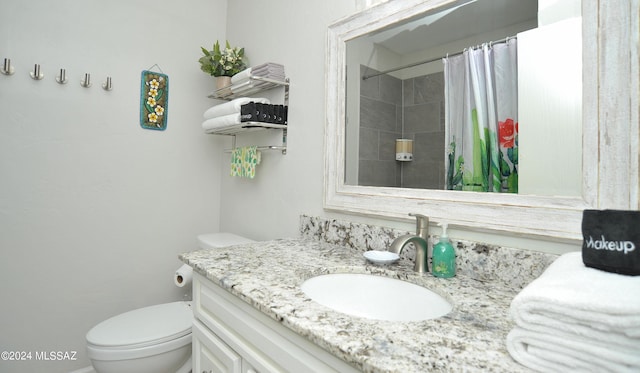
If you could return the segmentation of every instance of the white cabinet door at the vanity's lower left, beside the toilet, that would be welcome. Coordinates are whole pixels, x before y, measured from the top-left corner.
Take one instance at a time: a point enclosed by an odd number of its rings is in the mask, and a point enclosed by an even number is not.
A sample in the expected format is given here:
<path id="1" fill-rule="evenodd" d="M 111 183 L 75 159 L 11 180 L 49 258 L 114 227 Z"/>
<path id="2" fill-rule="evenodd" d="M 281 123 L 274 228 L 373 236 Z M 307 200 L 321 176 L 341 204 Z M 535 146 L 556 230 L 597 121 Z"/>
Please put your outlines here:
<path id="1" fill-rule="evenodd" d="M 193 324 L 193 372 L 241 373 L 242 358 L 200 322 Z"/>

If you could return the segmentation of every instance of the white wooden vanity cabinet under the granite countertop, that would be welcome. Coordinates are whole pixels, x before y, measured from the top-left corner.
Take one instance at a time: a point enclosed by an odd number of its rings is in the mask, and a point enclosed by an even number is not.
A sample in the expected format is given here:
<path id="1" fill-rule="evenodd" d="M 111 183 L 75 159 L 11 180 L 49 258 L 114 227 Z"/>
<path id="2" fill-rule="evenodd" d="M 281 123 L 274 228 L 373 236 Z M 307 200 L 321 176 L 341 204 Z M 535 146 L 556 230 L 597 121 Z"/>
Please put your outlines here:
<path id="1" fill-rule="evenodd" d="M 357 372 L 204 276 L 193 275 L 193 372 Z"/>

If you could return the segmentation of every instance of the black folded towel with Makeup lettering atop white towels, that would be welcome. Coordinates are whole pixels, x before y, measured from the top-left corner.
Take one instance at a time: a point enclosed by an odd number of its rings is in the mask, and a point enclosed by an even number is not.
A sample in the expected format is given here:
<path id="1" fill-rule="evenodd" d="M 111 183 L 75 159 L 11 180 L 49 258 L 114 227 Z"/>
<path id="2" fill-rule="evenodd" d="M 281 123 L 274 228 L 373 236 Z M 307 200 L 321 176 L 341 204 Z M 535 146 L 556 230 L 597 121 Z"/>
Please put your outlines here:
<path id="1" fill-rule="evenodd" d="M 582 236 L 587 267 L 640 275 L 640 211 L 584 210 Z"/>

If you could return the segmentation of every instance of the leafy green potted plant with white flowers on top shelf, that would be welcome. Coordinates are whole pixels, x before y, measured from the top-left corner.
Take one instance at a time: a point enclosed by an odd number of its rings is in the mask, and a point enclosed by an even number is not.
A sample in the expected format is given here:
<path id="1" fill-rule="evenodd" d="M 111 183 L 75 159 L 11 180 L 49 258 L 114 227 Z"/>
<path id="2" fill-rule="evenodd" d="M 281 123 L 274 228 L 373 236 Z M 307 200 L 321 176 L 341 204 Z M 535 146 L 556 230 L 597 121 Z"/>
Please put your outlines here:
<path id="1" fill-rule="evenodd" d="M 200 69 L 217 79 L 218 89 L 229 86 L 231 77 L 247 68 L 244 58 L 244 48 L 232 48 L 229 41 L 226 41 L 225 48 L 220 48 L 220 43 L 216 41 L 213 50 L 200 47 L 204 56 L 200 57 Z M 220 77 L 226 77 L 220 79 Z"/>

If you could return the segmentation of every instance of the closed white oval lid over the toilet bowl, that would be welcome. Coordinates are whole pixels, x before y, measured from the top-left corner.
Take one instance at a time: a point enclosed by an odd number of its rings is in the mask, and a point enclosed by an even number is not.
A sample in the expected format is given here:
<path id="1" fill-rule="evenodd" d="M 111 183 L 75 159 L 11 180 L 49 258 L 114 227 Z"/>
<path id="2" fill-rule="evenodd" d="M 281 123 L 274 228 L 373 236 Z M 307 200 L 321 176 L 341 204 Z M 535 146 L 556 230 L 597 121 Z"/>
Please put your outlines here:
<path id="1" fill-rule="evenodd" d="M 158 344 L 191 333 L 192 322 L 189 303 L 157 304 L 101 322 L 89 330 L 87 342 L 105 347 Z"/>

